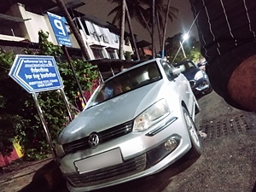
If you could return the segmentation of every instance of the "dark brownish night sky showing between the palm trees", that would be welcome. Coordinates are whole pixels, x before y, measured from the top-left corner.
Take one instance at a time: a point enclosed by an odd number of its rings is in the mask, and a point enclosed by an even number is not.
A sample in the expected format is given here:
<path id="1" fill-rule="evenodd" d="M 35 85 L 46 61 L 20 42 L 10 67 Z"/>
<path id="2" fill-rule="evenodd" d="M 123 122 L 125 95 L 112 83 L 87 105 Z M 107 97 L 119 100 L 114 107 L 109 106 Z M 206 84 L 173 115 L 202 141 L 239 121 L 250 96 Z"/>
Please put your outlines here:
<path id="1" fill-rule="evenodd" d="M 113 17 L 108 16 L 108 13 L 116 6 L 115 3 L 110 3 L 107 0 L 81 0 L 86 3 L 83 7 L 79 9 L 80 12 L 85 15 L 94 15 L 105 21 L 112 22 Z M 128 0 L 129 1 L 129 0 Z M 157 1 L 157 0 L 156 0 Z M 166 0 L 167 4 L 167 0 Z M 178 32 L 186 33 L 189 27 L 193 23 L 193 16 L 189 4 L 189 0 L 172 0 L 171 6 L 179 9 L 179 15 L 177 15 L 177 20 L 174 19 L 173 22 L 168 22 L 168 29 L 166 32 L 166 37 L 172 37 Z M 138 40 L 148 40 L 151 42 L 148 31 L 142 26 L 138 25 L 135 20 L 132 20 L 132 26 L 134 33 L 137 34 Z M 128 27 L 125 28 L 128 32 Z M 189 33 L 191 36 L 197 37 L 196 27 L 193 26 L 192 31 Z M 155 37 L 157 40 L 158 38 Z"/>

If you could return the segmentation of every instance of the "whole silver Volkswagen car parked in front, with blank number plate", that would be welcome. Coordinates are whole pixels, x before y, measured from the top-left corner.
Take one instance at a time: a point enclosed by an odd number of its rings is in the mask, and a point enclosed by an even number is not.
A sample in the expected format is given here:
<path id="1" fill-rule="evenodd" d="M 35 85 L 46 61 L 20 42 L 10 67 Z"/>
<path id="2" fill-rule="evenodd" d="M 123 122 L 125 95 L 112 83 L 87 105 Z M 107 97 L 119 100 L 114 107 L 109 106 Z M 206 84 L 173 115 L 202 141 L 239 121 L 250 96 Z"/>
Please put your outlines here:
<path id="1" fill-rule="evenodd" d="M 201 154 L 199 106 L 189 81 L 162 59 L 101 84 L 61 131 L 56 153 L 70 191 L 90 191 L 160 172 Z"/>

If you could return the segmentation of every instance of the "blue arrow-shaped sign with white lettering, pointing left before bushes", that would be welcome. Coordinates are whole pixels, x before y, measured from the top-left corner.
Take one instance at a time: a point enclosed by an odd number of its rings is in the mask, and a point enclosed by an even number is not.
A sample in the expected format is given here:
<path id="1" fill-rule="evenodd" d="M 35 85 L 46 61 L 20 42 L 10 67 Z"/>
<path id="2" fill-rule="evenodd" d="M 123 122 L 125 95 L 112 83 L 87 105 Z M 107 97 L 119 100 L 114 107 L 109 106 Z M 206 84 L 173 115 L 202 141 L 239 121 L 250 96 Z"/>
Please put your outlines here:
<path id="1" fill-rule="evenodd" d="M 53 56 L 16 55 L 9 76 L 29 93 L 63 88 Z"/>

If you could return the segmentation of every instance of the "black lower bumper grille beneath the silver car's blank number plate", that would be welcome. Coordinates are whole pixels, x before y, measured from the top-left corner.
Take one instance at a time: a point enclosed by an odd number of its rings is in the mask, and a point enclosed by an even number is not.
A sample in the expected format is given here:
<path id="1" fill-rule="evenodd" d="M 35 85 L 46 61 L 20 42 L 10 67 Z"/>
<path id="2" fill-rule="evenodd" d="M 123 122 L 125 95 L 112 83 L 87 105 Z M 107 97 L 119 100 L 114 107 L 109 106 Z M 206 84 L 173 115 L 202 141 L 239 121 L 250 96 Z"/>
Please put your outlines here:
<path id="1" fill-rule="evenodd" d="M 124 163 L 102 168 L 83 174 L 67 174 L 68 181 L 75 187 L 87 187 L 100 183 L 106 183 L 118 178 L 127 177 L 137 172 L 142 172 L 147 164 L 146 154 L 126 160 Z"/>

